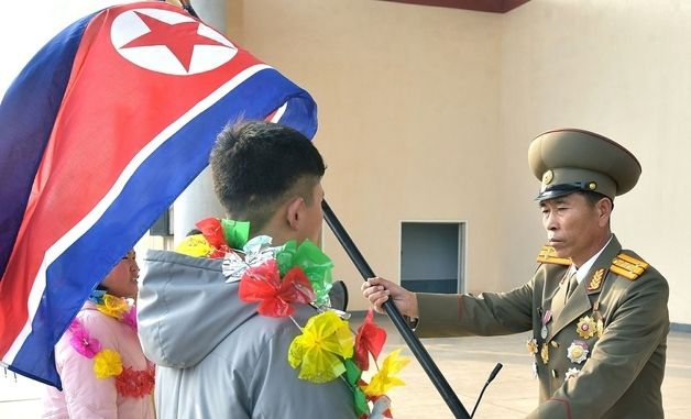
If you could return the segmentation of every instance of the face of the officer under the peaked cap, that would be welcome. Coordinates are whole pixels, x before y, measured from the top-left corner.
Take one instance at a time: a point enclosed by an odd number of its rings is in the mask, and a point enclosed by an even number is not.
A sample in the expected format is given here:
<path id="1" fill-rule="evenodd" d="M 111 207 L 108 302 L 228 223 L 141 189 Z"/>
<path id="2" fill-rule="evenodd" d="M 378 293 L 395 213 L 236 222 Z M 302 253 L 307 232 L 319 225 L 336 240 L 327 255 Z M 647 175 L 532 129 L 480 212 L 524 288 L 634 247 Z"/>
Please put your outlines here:
<path id="1" fill-rule="evenodd" d="M 607 199 L 590 203 L 581 194 L 540 202 L 548 244 L 559 257 L 571 257 L 581 266 L 597 253 L 610 238 L 611 206 Z"/>

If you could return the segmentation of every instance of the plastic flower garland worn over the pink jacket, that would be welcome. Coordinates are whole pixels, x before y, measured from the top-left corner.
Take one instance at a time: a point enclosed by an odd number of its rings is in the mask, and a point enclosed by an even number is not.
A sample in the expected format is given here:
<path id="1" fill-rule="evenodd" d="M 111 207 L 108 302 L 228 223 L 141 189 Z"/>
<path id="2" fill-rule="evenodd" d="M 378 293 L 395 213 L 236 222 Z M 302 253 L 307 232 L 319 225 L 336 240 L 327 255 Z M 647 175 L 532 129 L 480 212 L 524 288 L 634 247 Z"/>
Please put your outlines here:
<path id="1" fill-rule="evenodd" d="M 113 297 L 105 291 L 96 290 L 89 299 L 96 302 L 96 309 L 108 317 L 122 321 L 136 331 L 136 311 L 124 298 Z M 149 363 L 146 370 L 136 371 L 123 367 L 122 359 L 117 351 L 102 349 L 101 342 L 91 338 L 89 331 L 79 319 L 73 320 L 67 331 L 70 333 L 69 344 L 80 355 L 94 360 L 94 373 L 97 378 L 116 379 L 116 389 L 124 397 L 144 397 L 154 389 L 154 365 Z"/>

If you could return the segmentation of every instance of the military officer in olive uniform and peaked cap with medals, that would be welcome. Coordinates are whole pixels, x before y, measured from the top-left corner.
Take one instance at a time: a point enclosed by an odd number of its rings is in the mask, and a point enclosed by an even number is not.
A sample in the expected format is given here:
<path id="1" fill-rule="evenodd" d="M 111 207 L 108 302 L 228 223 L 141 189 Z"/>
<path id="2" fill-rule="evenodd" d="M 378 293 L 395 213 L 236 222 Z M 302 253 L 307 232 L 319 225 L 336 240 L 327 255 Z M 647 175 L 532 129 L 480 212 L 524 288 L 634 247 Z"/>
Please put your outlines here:
<path id="1" fill-rule="evenodd" d="M 529 331 L 539 378 L 529 418 L 662 418 L 669 332 L 667 280 L 610 229 L 614 197 L 640 164 L 615 142 L 583 130 L 542 133 L 528 163 L 547 245 L 533 278 L 507 293 L 414 294 L 383 278 L 363 283 L 382 311 L 392 298 L 420 338 Z"/>

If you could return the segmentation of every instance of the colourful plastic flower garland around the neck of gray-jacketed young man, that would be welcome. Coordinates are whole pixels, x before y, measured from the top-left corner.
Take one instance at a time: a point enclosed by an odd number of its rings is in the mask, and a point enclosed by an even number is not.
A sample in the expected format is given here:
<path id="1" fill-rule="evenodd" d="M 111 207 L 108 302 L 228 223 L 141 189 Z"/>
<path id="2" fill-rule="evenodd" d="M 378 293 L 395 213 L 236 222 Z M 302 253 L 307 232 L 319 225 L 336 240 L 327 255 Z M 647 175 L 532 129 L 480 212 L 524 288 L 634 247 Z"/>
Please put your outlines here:
<path id="1" fill-rule="evenodd" d="M 353 394 L 359 418 L 391 418 L 386 393 L 404 382 L 395 375 L 408 362 L 401 350 L 386 356 L 380 367 L 376 360 L 386 341 L 386 331 L 373 321 L 370 310 L 353 338 L 350 315 L 330 308 L 329 290 L 333 263 L 317 245 L 306 240 L 297 245 L 289 241 L 272 247 L 271 238 L 246 241 L 249 223 L 205 219 L 197 223 L 201 234 L 185 238 L 176 251 L 190 256 L 223 257 L 228 283 L 240 282 L 239 296 L 256 304 L 257 312 L 268 317 L 289 317 L 301 330 L 288 348 L 288 363 L 299 368 L 298 377 L 312 383 L 342 379 Z M 234 251 L 233 249 L 242 249 Z M 311 305 L 317 315 L 300 327 L 292 317 L 294 304 Z M 368 384 L 363 371 L 370 356 L 377 372 Z"/>

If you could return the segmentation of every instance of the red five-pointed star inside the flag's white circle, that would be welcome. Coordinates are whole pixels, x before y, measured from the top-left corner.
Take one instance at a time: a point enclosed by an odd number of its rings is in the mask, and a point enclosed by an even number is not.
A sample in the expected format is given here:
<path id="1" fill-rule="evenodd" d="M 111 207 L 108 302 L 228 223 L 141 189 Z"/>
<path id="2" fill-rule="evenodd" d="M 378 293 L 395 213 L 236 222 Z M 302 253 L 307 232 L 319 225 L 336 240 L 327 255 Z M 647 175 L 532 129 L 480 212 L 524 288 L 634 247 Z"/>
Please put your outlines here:
<path id="1" fill-rule="evenodd" d="M 173 53 L 173 55 L 175 55 L 177 60 L 180 62 L 186 71 L 189 71 L 195 45 L 227 46 L 218 41 L 199 35 L 197 33 L 200 24 L 199 22 L 193 21 L 171 24 L 140 12 L 135 13 L 151 30 L 151 32 L 130 41 L 122 47 L 132 48 L 136 46 L 152 45 L 165 46 L 168 51 L 171 51 L 171 53 Z"/>

